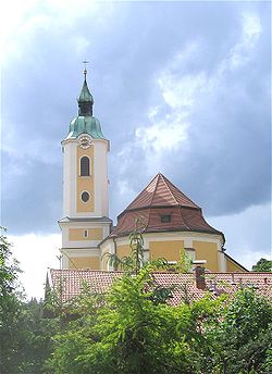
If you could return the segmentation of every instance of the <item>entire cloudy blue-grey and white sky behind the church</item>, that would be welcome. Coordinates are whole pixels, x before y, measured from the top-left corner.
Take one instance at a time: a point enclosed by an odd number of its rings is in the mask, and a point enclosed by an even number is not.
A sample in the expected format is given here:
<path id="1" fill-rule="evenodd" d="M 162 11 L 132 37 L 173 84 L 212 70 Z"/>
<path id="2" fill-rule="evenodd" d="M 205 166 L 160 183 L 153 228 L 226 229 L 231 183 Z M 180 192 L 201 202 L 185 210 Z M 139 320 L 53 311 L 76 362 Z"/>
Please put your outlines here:
<path id="1" fill-rule="evenodd" d="M 271 4 L 15 0 L 1 10 L 1 225 L 42 297 L 83 60 L 110 139 L 110 217 L 163 173 L 248 269 L 271 257 Z"/>

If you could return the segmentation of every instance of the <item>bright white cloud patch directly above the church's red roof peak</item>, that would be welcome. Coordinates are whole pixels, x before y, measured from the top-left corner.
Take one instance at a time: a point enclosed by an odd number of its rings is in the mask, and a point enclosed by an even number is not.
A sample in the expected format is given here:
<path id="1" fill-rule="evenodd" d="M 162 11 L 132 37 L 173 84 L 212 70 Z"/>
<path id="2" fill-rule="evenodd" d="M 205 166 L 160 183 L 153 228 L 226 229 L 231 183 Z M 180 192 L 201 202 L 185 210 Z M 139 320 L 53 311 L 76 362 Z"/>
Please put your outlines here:
<path id="1" fill-rule="evenodd" d="M 159 165 L 164 151 L 177 150 L 186 146 L 189 128 L 189 114 L 196 104 L 199 91 L 207 85 L 203 72 L 191 75 L 176 75 L 176 70 L 197 53 L 200 48 L 197 42 L 187 45 L 184 51 L 178 51 L 173 60 L 159 73 L 158 89 L 163 99 L 150 107 L 147 113 L 149 124 L 137 127 L 135 145 L 146 152 L 149 163 Z M 169 105 L 171 111 L 161 115 L 163 107 Z"/>

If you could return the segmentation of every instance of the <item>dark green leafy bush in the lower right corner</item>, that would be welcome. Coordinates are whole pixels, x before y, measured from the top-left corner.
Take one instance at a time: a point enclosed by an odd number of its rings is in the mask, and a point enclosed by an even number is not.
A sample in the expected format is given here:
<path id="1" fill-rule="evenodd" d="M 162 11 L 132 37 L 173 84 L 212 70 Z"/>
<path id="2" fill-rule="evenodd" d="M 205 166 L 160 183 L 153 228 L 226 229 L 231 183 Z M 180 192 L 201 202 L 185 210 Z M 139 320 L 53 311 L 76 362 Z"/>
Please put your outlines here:
<path id="1" fill-rule="evenodd" d="M 224 323 L 221 325 L 230 373 L 236 373 L 238 370 L 256 370 L 261 373 L 269 342 L 271 347 L 271 303 L 258 296 L 254 289 L 238 290 L 226 309 Z"/>

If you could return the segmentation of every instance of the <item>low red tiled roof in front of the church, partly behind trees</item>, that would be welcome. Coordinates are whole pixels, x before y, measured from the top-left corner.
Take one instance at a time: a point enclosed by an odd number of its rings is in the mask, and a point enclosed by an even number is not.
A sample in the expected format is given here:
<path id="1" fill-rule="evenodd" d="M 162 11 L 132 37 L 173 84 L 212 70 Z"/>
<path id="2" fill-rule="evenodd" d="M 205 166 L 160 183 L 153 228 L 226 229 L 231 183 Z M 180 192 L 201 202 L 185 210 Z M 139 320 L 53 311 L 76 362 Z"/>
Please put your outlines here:
<path id="1" fill-rule="evenodd" d="M 48 286 L 66 301 L 77 297 L 85 285 L 94 292 L 104 294 L 115 279 L 122 277 L 122 272 L 51 269 L 48 274 Z M 174 286 L 171 304 L 177 306 L 185 300 L 191 302 L 206 295 L 205 290 L 197 288 L 194 273 L 154 272 L 152 276 L 162 287 Z M 249 286 L 272 300 L 272 273 L 206 273 L 205 279 L 206 290 L 213 298 L 223 292 L 233 294 L 239 286 Z"/>

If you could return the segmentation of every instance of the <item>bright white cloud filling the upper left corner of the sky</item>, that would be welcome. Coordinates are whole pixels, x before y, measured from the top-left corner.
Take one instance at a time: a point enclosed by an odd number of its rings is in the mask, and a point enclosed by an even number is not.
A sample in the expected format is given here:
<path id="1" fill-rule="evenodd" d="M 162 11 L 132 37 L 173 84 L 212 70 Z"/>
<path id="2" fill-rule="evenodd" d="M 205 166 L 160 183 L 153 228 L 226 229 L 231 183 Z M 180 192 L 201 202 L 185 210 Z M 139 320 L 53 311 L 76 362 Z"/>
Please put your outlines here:
<path id="1" fill-rule="evenodd" d="M 38 30 L 58 30 L 59 33 L 63 27 L 71 28 L 79 17 L 87 13 L 89 16 L 98 13 L 99 17 L 99 2 L 92 0 L 2 1 L 0 12 L 2 64 L 8 63 L 12 57 L 21 57 L 25 52 L 25 46 L 35 38 Z M 72 35 L 71 39 L 73 43 L 76 38 Z M 77 39 L 75 48 L 79 53 L 81 50 L 86 49 L 86 41 L 83 38 Z M 35 53 L 33 55 L 35 58 Z"/>

